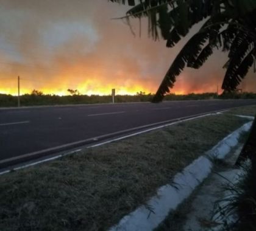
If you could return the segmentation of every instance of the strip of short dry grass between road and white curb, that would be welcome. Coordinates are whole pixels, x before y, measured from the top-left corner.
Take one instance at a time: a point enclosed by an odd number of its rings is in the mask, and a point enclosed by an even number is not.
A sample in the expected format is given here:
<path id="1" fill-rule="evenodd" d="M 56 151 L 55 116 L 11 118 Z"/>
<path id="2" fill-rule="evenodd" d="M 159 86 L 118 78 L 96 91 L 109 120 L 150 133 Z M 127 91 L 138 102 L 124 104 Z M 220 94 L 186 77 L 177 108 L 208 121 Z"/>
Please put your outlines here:
<path id="1" fill-rule="evenodd" d="M 4 174 L 0 230 L 106 230 L 247 121 L 203 117 Z"/>

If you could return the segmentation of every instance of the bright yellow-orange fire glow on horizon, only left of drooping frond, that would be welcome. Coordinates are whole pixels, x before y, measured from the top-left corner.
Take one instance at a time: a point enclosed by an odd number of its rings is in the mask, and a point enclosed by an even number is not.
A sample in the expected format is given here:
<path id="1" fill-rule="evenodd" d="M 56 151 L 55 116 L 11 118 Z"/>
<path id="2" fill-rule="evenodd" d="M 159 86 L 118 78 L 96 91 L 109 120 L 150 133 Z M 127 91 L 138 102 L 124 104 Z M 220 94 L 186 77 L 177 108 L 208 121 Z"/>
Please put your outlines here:
<path id="1" fill-rule="evenodd" d="M 8 80 L 7 80 L 8 79 Z M 4 80 L 4 81 L 3 81 Z M 0 94 L 18 94 L 18 80 L 13 78 L 9 80 L 6 78 L 1 81 Z M 52 79 L 52 83 L 43 83 L 43 81 L 38 81 L 38 83 L 34 83 L 35 80 L 30 80 L 28 78 L 20 78 L 20 94 L 30 94 L 33 89 L 37 91 L 43 92 L 43 94 L 50 95 L 68 95 L 68 89 L 76 89 L 81 95 L 110 95 L 113 88 L 116 89 L 116 94 L 118 95 L 135 95 L 137 92 L 145 92 L 145 94 L 149 94 L 150 92 L 155 91 L 155 87 L 145 88 L 143 82 L 130 80 L 125 84 L 120 83 L 105 83 L 105 81 L 99 80 L 88 80 L 82 81 L 81 83 L 72 83 L 72 77 L 66 77 L 65 83 L 60 81 L 58 84 L 58 80 Z"/>

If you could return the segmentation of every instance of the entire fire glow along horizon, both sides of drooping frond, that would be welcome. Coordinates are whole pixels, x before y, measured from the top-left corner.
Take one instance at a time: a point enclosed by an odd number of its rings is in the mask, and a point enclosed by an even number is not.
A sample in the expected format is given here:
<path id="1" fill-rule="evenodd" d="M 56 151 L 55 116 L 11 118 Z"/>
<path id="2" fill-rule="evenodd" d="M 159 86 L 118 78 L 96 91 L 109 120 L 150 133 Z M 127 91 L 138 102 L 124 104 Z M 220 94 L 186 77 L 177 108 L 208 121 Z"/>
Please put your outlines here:
<path id="1" fill-rule="evenodd" d="M 4 79 L 4 78 L 2 78 Z M 0 75 L 0 94 L 18 95 L 18 78 L 7 78 L 9 81 L 1 81 Z M 87 81 L 71 82 L 71 77 L 65 76 L 65 81 L 60 81 L 60 77 L 51 78 L 48 84 L 43 80 L 29 80 L 20 78 L 20 95 L 31 94 L 33 90 L 41 91 L 44 95 L 70 95 L 68 89 L 77 90 L 81 95 L 111 95 L 112 89 L 116 91 L 116 95 L 136 95 L 137 92 L 145 94 L 154 94 L 157 91 L 157 83 L 146 82 L 140 78 L 131 78 L 129 81 L 112 81 L 107 83 L 105 78 L 99 81 L 99 77 L 91 78 Z M 29 80 L 29 81 L 28 81 Z M 177 81 L 176 86 L 171 89 L 172 94 L 186 95 L 190 93 L 201 94 L 205 92 L 216 92 L 215 86 L 208 86 L 205 89 L 192 89 L 188 84 L 183 83 L 182 78 Z"/>

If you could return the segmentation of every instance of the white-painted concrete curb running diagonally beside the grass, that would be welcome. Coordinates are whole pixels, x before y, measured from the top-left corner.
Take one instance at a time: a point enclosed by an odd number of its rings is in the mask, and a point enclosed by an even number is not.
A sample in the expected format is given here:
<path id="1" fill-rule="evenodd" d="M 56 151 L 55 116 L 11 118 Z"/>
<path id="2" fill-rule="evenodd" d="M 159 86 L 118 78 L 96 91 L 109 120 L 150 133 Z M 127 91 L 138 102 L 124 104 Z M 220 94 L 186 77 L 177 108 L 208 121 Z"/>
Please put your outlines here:
<path id="1" fill-rule="evenodd" d="M 211 159 L 223 159 L 238 144 L 243 131 L 249 131 L 252 122 L 248 122 L 221 140 L 205 156 L 200 156 L 188 165 L 182 173 L 174 176 L 171 184 L 164 185 L 157 190 L 157 195 L 151 198 L 146 205 L 141 205 L 127 216 L 124 216 L 110 231 L 148 231 L 155 229 L 177 206 L 193 192 L 197 185 L 207 178 L 212 171 Z"/>

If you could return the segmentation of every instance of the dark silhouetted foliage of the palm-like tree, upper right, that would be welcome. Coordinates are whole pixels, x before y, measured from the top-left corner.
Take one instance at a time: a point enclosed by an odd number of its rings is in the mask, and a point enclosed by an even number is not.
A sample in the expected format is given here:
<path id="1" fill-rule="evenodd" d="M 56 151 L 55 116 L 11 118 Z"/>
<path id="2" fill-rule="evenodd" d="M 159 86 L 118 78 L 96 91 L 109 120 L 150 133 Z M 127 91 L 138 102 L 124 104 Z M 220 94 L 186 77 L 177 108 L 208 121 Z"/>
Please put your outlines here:
<path id="1" fill-rule="evenodd" d="M 256 0 L 110 0 L 135 5 L 126 16 L 147 17 L 149 33 L 157 40 L 161 33 L 167 47 L 175 46 L 192 26 L 204 22 L 172 62 L 154 102 L 160 102 L 185 66 L 198 69 L 214 49 L 229 52 L 224 64 L 222 89 L 232 92 L 254 65 L 256 71 Z"/>

